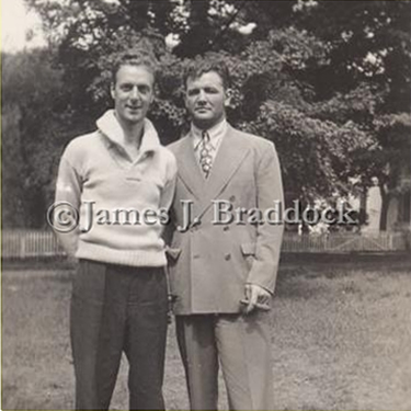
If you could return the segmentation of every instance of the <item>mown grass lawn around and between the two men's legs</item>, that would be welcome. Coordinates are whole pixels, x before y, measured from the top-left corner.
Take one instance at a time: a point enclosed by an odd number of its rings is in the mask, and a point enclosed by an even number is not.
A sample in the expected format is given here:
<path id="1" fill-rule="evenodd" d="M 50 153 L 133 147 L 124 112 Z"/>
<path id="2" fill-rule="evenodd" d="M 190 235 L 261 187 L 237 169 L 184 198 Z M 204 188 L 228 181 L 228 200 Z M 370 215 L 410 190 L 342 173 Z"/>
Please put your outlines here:
<path id="1" fill-rule="evenodd" d="M 287 261 L 272 310 L 276 410 L 411 410 L 410 260 Z M 70 271 L 4 270 L 2 409 L 73 407 Z M 127 409 L 126 364 L 112 409 Z M 227 409 L 221 384 L 220 409 Z M 170 327 L 164 395 L 187 409 Z"/>

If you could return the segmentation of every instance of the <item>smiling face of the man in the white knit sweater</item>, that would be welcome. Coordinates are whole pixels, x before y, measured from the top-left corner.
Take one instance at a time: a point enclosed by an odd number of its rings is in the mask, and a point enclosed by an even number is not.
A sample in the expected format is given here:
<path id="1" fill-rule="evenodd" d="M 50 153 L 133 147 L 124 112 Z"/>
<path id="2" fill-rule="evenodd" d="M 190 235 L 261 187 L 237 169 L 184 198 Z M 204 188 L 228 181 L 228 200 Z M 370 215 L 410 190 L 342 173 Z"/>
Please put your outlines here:
<path id="1" fill-rule="evenodd" d="M 116 115 L 123 124 L 144 121 L 153 100 L 153 75 L 145 66 L 122 66 L 112 84 Z"/>

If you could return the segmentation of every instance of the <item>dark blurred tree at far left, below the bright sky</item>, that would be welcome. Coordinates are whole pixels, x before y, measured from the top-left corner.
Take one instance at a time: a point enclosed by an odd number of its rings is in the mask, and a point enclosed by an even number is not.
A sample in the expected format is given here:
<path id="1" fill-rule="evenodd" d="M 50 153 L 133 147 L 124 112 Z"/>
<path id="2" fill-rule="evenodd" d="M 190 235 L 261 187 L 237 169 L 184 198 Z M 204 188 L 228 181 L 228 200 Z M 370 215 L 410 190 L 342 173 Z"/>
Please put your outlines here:
<path id="1" fill-rule="evenodd" d="M 2 55 L 3 225 L 42 227 L 71 113 L 48 53 Z M 67 138 L 67 137 L 66 137 Z"/>

